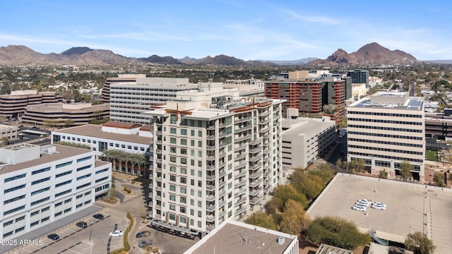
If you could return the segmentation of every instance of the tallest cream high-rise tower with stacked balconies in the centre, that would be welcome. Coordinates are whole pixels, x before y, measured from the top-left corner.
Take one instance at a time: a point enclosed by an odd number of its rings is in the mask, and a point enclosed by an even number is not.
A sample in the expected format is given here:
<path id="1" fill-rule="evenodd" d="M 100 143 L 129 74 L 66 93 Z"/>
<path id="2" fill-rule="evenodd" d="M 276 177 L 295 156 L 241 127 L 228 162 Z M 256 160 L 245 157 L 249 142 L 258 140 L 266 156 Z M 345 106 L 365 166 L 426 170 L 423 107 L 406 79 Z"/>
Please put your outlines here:
<path id="1" fill-rule="evenodd" d="M 221 87 L 202 84 L 145 112 L 154 130 L 150 217 L 169 229 L 240 219 L 281 179 L 284 101 L 245 101 Z"/>

